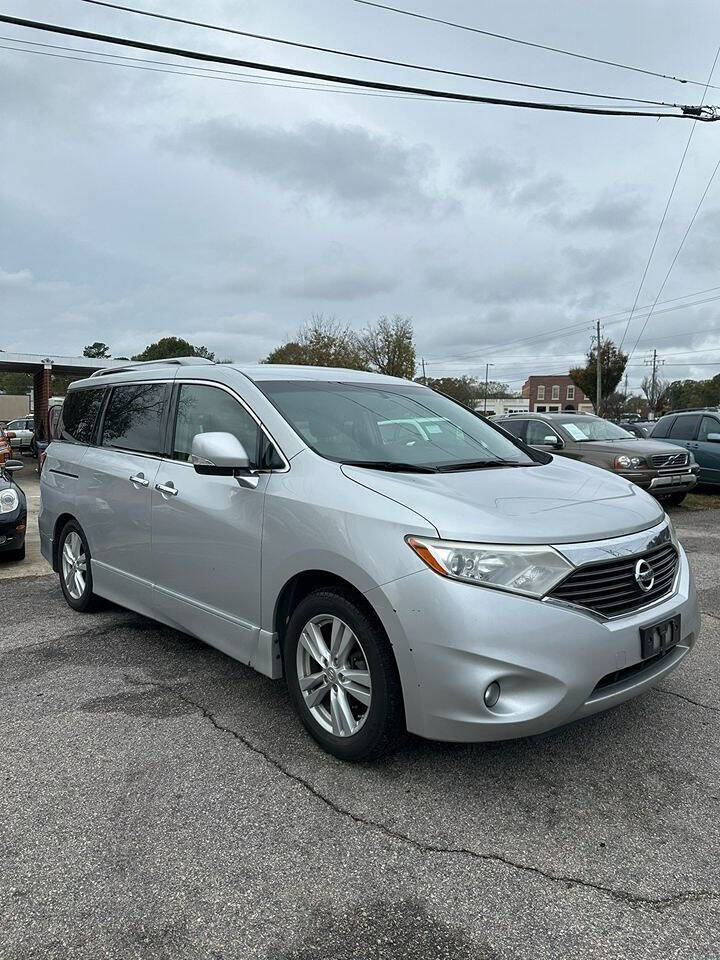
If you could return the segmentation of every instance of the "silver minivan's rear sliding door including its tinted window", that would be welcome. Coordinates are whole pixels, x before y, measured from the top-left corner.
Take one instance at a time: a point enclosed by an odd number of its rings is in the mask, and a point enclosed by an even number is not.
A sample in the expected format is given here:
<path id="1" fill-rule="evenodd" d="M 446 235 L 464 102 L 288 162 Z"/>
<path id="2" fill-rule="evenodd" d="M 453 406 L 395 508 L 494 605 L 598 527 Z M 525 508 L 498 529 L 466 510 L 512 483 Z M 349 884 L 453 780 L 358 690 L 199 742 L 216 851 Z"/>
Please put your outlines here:
<path id="1" fill-rule="evenodd" d="M 140 610 L 152 596 L 150 495 L 169 399 L 162 381 L 112 386 L 99 443 L 83 461 L 79 512 L 98 592 Z"/>

